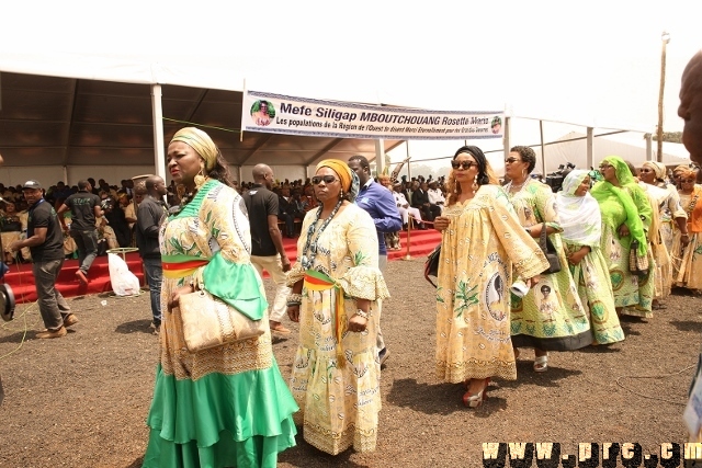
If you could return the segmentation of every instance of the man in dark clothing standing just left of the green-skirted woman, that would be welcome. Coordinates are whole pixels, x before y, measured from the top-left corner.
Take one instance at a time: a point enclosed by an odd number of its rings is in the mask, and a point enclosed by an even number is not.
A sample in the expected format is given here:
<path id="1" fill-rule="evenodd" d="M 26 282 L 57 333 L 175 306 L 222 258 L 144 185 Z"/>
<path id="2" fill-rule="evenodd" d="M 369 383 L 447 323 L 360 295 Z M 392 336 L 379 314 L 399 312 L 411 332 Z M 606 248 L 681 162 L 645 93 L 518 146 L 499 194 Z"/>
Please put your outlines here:
<path id="1" fill-rule="evenodd" d="M 166 182 L 158 175 L 149 176 L 146 182 L 146 195 L 136 213 L 136 244 L 144 262 L 144 273 L 149 284 L 151 297 L 151 328 L 154 334 L 161 330 L 161 282 L 163 270 L 161 266 L 161 250 L 158 244 L 158 230 L 161 219 L 166 215 L 163 196 L 168 193 Z"/>

